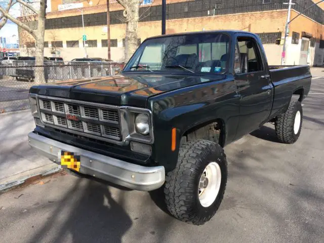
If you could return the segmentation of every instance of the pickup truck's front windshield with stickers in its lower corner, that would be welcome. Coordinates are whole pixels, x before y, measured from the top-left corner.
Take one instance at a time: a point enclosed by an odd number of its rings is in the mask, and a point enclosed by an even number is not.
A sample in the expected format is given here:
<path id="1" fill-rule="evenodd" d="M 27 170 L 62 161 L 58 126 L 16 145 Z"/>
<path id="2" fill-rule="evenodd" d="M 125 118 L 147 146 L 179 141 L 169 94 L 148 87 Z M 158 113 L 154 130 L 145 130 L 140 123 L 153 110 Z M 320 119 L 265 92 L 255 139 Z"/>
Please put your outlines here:
<path id="1" fill-rule="evenodd" d="M 224 73 L 228 48 L 229 36 L 223 33 L 148 39 L 128 62 L 125 71 Z"/>

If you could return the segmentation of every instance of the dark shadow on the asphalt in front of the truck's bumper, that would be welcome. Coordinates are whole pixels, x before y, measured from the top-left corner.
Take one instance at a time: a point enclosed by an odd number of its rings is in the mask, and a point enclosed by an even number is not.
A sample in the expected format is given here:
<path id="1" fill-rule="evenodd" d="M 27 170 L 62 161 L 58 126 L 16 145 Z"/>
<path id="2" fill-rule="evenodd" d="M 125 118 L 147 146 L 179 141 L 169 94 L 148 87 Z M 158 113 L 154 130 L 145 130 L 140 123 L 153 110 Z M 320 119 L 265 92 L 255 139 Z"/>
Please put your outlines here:
<path id="1" fill-rule="evenodd" d="M 121 237 L 132 226 L 132 220 L 124 210 L 125 191 L 121 191 L 117 202 L 104 184 L 87 180 L 85 188 L 80 189 L 78 185 L 82 180 L 86 179 L 76 180 L 74 187 L 60 201 L 60 207 L 30 242 L 41 242 L 46 238 L 52 226 L 60 221 L 58 215 L 64 208 L 72 210 L 52 242 L 64 242 L 66 238 L 72 238 L 72 242 L 121 242 Z M 69 205 L 71 198 L 76 197 L 73 205 Z"/>

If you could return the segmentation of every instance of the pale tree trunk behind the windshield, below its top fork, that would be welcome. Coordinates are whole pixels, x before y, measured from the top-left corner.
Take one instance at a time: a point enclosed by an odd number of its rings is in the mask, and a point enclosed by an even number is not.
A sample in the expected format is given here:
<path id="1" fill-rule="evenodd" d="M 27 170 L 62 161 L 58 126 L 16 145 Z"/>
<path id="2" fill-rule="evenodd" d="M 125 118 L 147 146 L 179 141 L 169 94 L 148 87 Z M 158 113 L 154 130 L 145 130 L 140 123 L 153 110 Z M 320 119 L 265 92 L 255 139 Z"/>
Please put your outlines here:
<path id="1" fill-rule="evenodd" d="M 125 37 L 125 63 L 137 49 L 137 27 L 139 21 L 139 4 L 132 4 L 127 9 L 126 37 Z"/>

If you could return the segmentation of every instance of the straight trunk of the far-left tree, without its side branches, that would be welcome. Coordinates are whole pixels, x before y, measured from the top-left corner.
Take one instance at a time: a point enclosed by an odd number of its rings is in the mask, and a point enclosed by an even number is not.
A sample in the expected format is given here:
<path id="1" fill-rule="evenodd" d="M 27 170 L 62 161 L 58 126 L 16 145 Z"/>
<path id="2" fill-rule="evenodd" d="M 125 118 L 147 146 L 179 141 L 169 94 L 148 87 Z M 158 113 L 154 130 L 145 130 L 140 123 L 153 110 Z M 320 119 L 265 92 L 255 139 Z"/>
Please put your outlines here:
<path id="1" fill-rule="evenodd" d="M 35 58 L 36 58 L 36 66 L 44 66 L 44 35 L 45 35 L 45 9 L 46 9 L 46 0 L 41 0 L 41 6 L 39 9 L 38 15 L 38 28 L 35 33 L 36 39 L 36 50 L 35 50 Z M 43 84 L 45 83 L 45 73 L 44 67 L 36 67 L 35 68 L 35 83 Z"/>

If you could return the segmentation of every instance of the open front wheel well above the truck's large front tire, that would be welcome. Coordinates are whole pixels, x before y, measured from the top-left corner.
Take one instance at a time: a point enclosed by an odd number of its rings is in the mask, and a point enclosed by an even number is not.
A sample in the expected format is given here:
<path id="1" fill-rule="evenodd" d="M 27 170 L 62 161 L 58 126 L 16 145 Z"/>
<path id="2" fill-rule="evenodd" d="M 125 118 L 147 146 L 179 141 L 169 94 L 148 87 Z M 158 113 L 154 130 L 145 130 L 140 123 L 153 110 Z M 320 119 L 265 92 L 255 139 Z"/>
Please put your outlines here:
<path id="1" fill-rule="evenodd" d="M 222 147 L 225 142 L 225 129 L 222 119 L 216 119 L 214 121 L 208 121 L 204 124 L 199 124 L 186 131 L 182 138 L 181 143 L 187 141 L 193 141 L 197 139 L 206 139 L 218 143 Z"/>

